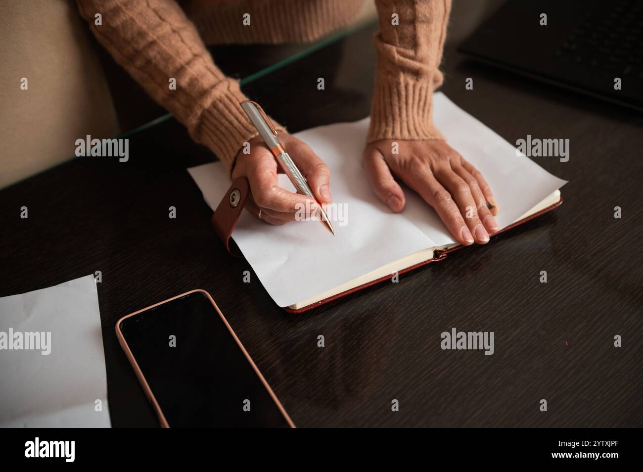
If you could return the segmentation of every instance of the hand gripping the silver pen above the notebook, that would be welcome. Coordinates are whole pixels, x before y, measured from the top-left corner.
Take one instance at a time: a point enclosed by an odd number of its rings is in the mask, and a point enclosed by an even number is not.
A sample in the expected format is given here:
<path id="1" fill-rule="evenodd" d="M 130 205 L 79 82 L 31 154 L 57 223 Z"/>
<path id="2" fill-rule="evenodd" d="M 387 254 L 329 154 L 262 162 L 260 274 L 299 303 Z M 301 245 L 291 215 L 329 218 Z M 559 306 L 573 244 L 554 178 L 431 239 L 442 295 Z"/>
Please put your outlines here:
<path id="1" fill-rule="evenodd" d="M 287 132 L 280 131 L 279 140 L 307 179 L 319 203 L 331 203 L 331 172 L 328 166 L 306 143 Z M 257 136 L 249 143 L 250 153 L 244 154 L 240 150 L 232 171 L 232 179 L 248 177 L 252 198 L 248 201 L 247 208 L 270 224 L 284 224 L 297 217 L 314 215 L 317 207 L 314 200 L 302 194 L 293 194 L 279 186 L 277 172 L 283 171 L 264 141 Z M 302 210 L 305 213 L 302 214 Z"/>

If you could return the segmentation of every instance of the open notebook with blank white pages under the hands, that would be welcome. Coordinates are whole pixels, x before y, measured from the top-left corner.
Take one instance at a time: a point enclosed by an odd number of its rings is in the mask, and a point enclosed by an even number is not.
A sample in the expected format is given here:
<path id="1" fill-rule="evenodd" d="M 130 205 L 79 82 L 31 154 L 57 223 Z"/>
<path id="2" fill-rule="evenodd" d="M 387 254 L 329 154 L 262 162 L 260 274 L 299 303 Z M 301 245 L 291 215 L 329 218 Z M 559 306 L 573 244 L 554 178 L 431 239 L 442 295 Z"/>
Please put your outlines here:
<path id="1" fill-rule="evenodd" d="M 556 204 L 566 181 L 539 167 L 442 93 L 433 120 L 449 144 L 477 167 L 491 186 L 501 228 Z M 406 208 L 391 212 L 373 193 L 361 156 L 368 118 L 298 132 L 331 168 L 330 208 L 336 236 L 318 221 L 271 226 L 243 212 L 233 239 L 280 307 L 303 310 L 392 273 L 432 260 L 457 246 L 435 210 L 408 188 Z M 547 158 L 543 158 L 547 159 Z M 551 159 L 551 158 L 548 158 Z M 188 169 L 210 208 L 230 186 L 219 162 Z M 294 191 L 280 174 L 280 185 Z"/>

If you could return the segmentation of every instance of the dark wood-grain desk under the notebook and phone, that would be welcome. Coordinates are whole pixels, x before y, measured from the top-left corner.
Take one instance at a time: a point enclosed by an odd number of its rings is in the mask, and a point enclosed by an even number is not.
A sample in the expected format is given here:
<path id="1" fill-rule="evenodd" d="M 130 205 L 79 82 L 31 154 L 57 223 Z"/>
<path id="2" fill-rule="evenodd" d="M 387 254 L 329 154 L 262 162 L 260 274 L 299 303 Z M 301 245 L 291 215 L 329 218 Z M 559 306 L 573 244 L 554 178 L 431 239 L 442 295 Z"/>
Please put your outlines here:
<path id="1" fill-rule="evenodd" d="M 245 91 L 291 131 L 363 118 L 372 32 L 359 30 Z M 251 268 L 215 240 L 211 212 L 185 170 L 212 156 L 168 120 L 130 136 L 127 163 L 74 159 L 0 192 L 0 296 L 102 271 L 113 426 L 158 424 L 114 323 L 197 287 L 212 294 L 298 426 L 641 426 L 640 116 L 476 66 L 454 46 L 444 69 L 446 95 L 508 141 L 570 139 L 567 163 L 538 159 L 570 180 L 561 208 L 399 284 L 291 315 L 259 282 L 242 283 Z M 466 77 L 474 91 L 464 89 Z M 440 333 L 452 327 L 494 331 L 495 353 L 441 350 Z"/>

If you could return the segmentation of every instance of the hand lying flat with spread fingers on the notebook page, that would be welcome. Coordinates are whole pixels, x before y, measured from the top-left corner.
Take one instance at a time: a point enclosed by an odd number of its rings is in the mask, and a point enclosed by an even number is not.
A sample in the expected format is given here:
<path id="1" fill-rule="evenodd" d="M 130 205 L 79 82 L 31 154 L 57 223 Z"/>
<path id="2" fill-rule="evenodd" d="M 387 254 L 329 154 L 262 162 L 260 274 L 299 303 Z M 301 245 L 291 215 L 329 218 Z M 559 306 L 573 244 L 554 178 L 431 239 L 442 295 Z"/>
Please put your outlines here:
<path id="1" fill-rule="evenodd" d="M 374 141 L 364 150 L 364 168 L 376 195 L 391 210 L 401 212 L 406 204 L 396 176 L 435 208 L 460 244 L 485 244 L 489 233 L 500 229 L 491 188 L 444 140 Z"/>

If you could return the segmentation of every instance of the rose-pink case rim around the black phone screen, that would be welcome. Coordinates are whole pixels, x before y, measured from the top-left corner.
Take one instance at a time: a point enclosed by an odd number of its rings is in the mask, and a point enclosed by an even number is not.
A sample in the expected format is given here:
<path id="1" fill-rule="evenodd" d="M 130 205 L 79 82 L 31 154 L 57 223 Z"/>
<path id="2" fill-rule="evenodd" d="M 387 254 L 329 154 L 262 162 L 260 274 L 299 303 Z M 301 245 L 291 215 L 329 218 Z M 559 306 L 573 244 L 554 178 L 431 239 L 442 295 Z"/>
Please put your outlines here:
<path id="1" fill-rule="evenodd" d="M 167 419 L 165 419 L 165 415 L 163 414 L 163 410 L 161 410 L 161 406 L 159 406 L 158 401 L 156 401 L 156 397 L 154 397 L 154 393 L 152 392 L 152 389 L 150 388 L 149 384 L 147 383 L 147 379 L 145 379 L 145 376 L 143 375 L 143 372 L 141 371 L 141 368 L 138 366 L 138 363 L 136 362 L 136 359 L 134 359 L 134 355 L 132 354 L 132 351 L 129 349 L 129 346 L 127 345 L 127 341 L 125 341 L 125 336 L 123 336 L 123 333 L 120 331 L 120 323 L 123 322 L 126 318 L 129 318 L 130 316 L 134 316 L 135 314 L 139 314 L 143 311 L 147 311 L 149 309 L 152 309 L 154 307 L 158 307 L 158 305 L 165 304 L 167 302 L 171 302 L 172 300 L 176 300 L 176 298 L 181 298 L 182 296 L 190 295 L 190 293 L 195 293 L 195 292 L 201 292 L 204 293 L 205 296 L 208 297 L 208 300 L 210 300 L 210 303 L 212 303 L 214 309 L 219 313 L 219 316 L 221 317 L 221 320 L 223 323 L 226 325 L 228 328 L 228 331 L 230 331 L 230 334 L 232 335 L 232 338 L 237 341 L 237 345 L 241 349 L 241 352 L 243 352 L 244 356 L 246 356 L 246 359 L 248 359 L 248 362 L 252 366 L 252 368 L 255 370 L 255 373 L 259 377 L 259 379 L 262 381 L 264 386 L 266 387 L 266 390 L 270 394 L 270 397 L 273 399 L 275 402 L 277 408 L 279 408 L 279 411 L 284 415 L 285 420 L 289 424 L 291 428 L 296 428 L 294 426 L 293 420 L 290 419 L 290 416 L 288 413 L 284 410 L 284 406 L 282 406 L 281 402 L 279 399 L 276 397 L 275 392 L 273 392 L 273 389 L 270 388 L 268 383 L 266 382 L 266 379 L 264 379 L 264 376 L 262 376 L 261 372 L 259 372 L 259 369 L 257 368 L 257 365 L 255 365 L 255 362 L 252 360 L 250 355 L 248 354 L 248 351 L 246 350 L 245 347 L 243 347 L 241 341 L 239 338 L 237 338 L 237 334 L 233 331 L 232 327 L 230 326 L 230 323 L 228 323 L 228 320 L 226 320 L 226 317 L 223 316 L 223 313 L 221 313 L 221 310 L 219 310 L 219 307 L 217 307 L 217 304 L 215 304 L 214 300 L 212 300 L 212 296 L 208 292 L 206 292 L 203 289 L 194 289 L 190 290 L 185 293 L 181 293 L 181 295 L 176 295 L 173 296 L 172 298 L 168 298 L 167 300 L 163 300 L 163 302 L 158 302 L 154 305 L 150 305 L 149 307 L 145 307 L 143 309 L 140 309 L 138 311 L 134 311 L 134 313 L 126 314 L 122 318 L 120 318 L 116 322 L 116 338 L 118 338 L 118 343 L 120 343 L 123 351 L 125 352 L 125 356 L 127 356 L 127 359 L 129 360 L 130 365 L 134 369 L 134 372 L 136 373 L 136 377 L 138 377 L 138 381 L 140 382 L 141 386 L 143 387 L 143 390 L 145 391 L 145 395 L 147 396 L 147 399 L 149 399 L 150 403 L 152 403 L 152 406 L 154 407 L 154 411 L 156 411 L 156 415 L 158 416 L 159 421 L 161 422 L 161 428 L 169 428 L 170 424 L 167 422 Z"/>

